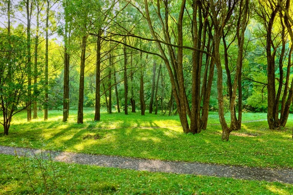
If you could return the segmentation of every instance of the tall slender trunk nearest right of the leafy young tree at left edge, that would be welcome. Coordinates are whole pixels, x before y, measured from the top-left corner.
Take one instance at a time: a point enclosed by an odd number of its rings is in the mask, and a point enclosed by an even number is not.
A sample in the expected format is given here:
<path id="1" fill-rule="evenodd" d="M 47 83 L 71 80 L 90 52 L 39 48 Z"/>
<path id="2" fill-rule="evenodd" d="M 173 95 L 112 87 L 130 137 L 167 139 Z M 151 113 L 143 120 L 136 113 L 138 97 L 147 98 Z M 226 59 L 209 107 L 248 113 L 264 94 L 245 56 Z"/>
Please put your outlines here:
<path id="1" fill-rule="evenodd" d="M 32 7 L 30 7 L 30 1 L 25 1 L 25 7 L 26 7 L 26 20 L 27 20 L 27 29 L 26 29 L 26 35 L 27 35 L 27 121 L 32 120 L 32 108 L 31 108 L 31 101 L 32 101 L 32 78 L 31 78 L 31 11 Z"/>

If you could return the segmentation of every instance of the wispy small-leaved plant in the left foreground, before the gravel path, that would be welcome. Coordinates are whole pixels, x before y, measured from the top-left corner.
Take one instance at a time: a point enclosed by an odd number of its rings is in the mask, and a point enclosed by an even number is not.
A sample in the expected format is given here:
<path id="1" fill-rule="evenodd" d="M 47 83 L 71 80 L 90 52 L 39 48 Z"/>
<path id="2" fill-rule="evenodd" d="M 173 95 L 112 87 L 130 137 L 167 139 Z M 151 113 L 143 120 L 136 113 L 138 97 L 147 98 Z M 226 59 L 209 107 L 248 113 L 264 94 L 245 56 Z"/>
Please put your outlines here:
<path id="1" fill-rule="evenodd" d="M 71 166 L 68 166 L 67 172 L 61 172 L 54 163 L 54 156 L 50 151 L 44 151 L 46 144 L 42 142 L 41 149 L 33 152 L 29 149 L 17 151 L 15 147 L 15 155 L 18 157 L 18 162 L 21 165 L 22 172 L 26 174 L 28 184 L 33 194 L 56 195 L 59 191 L 66 189 L 70 191 L 70 175 Z M 27 140 L 23 140 L 27 147 L 31 144 Z"/>

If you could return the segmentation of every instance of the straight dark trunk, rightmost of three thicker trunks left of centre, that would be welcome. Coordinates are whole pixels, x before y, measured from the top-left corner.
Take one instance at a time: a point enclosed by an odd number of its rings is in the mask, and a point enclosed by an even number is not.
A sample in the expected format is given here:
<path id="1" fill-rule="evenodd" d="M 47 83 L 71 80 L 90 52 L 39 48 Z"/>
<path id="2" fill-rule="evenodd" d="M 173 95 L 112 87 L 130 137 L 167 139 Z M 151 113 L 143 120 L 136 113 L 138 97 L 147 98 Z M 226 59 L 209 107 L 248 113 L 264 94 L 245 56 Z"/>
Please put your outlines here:
<path id="1" fill-rule="evenodd" d="M 100 29 L 99 34 L 102 34 Z M 115 79 L 115 77 L 114 77 Z M 97 61 L 96 61 L 96 101 L 95 101 L 95 121 L 101 120 L 101 94 L 100 94 L 100 83 L 101 83 L 101 38 L 97 39 Z M 115 82 L 116 83 L 116 82 Z"/>

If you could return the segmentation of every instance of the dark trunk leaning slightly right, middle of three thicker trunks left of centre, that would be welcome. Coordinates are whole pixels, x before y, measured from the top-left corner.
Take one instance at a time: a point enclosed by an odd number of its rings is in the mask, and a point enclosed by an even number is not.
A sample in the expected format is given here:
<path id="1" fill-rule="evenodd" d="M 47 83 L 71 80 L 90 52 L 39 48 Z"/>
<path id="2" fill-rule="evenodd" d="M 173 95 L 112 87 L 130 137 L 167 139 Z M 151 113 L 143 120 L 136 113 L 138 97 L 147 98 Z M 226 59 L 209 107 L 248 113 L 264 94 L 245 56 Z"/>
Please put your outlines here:
<path id="1" fill-rule="evenodd" d="M 80 86 L 79 99 L 77 110 L 77 123 L 84 123 L 84 66 L 85 66 L 85 48 L 87 36 L 82 39 L 82 55 L 81 55 L 81 70 L 80 70 Z"/>

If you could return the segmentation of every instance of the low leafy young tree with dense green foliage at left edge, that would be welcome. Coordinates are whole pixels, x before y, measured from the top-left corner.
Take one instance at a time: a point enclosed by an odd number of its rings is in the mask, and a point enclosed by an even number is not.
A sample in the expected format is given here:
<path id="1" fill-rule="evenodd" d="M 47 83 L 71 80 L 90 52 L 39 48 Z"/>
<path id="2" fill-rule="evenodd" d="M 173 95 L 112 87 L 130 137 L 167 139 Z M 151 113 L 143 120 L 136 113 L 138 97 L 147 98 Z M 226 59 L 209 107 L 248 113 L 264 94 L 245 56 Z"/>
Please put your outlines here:
<path id="1" fill-rule="evenodd" d="M 3 32 L 0 32 L 0 40 L 0 110 L 3 114 L 0 124 L 8 135 L 12 117 L 31 104 L 27 97 L 27 44 L 24 37 Z"/>

